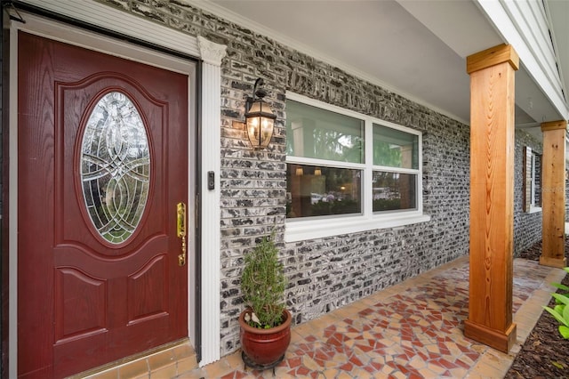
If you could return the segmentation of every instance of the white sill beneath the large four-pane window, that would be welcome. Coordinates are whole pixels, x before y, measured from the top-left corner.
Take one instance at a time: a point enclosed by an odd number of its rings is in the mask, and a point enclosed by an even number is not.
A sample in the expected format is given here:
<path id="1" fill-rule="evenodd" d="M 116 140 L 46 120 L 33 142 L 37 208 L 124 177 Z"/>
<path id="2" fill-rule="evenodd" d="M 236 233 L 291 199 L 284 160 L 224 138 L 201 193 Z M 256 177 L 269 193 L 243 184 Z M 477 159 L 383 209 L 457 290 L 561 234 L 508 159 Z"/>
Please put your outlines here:
<path id="1" fill-rule="evenodd" d="M 428 222 L 428 214 L 389 214 L 374 217 L 339 217 L 333 220 L 309 220 L 286 222 L 284 242 L 325 238 L 365 230 L 387 229 L 413 223 Z"/>

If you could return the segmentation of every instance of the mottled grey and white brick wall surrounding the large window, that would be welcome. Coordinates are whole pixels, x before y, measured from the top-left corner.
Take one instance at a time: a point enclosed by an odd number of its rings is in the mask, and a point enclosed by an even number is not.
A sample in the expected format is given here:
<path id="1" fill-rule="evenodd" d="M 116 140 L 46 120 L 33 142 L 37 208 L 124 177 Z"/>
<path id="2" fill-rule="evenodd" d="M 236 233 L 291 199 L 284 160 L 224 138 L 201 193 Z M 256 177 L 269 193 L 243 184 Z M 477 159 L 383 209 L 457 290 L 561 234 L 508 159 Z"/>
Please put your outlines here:
<path id="1" fill-rule="evenodd" d="M 221 65 L 220 110 L 222 356 L 238 348 L 243 255 L 274 227 L 289 278 L 286 302 L 296 323 L 469 253 L 467 125 L 183 0 L 98 1 L 228 45 Z M 267 100 L 278 115 L 273 141 L 261 152 L 250 149 L 243 126 L 233 125 L 243 120 L 244 99 L 256 77 L 265 79 Z M 286 91 L 421 131 L 422 196 L 431 221 L 284 244 Z"/>

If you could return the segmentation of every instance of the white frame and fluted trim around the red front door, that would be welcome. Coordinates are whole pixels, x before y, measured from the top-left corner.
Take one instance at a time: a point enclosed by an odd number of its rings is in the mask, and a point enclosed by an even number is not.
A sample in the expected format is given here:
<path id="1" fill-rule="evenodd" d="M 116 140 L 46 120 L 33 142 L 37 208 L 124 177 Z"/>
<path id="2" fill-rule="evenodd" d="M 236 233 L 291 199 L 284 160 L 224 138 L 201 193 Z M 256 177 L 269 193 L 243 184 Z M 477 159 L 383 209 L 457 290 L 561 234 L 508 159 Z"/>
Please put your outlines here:
<path id="1" fill-rule="evenodd" d="M 188 133 L 188 147 L 202 146 L 201 165 L 201 250 L 202 254 L 201 278 L 202 303 L 201 309 L 196 309 L 196 294 L 190 288 L 196 288 L 196 257 L 188 257 L 188 331 L 189 338 L 196 341 L 195 320 L 197 312 L 201 315 L 201 347 L 200 366 L 220 359 L 220 63 L 225 56 L 226 46 L 214 44 L 203 37 L 185 35 L 171 28 L 165 28 L 128 13 L 119 12 L 107 5 L 94 2 L 62 2 L 59 0 L 25 0 L 26 3 L 36 5 L 51 12 L 63 14 L 71 19 L 81 20 L 94 26 L 108 28 L 117 33 L 136 37 L 137 39 L 156 44 L 161 47 L 194 56 L 203 60 L 202 88 L 201 88 L 201 118 L 202 137 L 196 141 L 195 115 L 188 115 L 190 133 Z M 18 99 L 18 30 L 24 30 L 39 36 L 46 36 L 68 44 L 81 45 L 86 48 L 110 53 L 130 60 L 170 69 L 188 75 L 188 111 L 196 109 L 196 64 L 182 60 L 162 52 L 142 48 L 135 44 L 73 28 L 53 20 L 46 20 L 36 15 L 20 12 L 26 23 L 11 21 L 10 25 L 10 98 Z M 69 30 L 73 29 L 73 33 Z M 10 179 L 10 227 L 9 227 L 9 377 L 17 376 L 18 359 L 18 109 L 17 101 L 11 101 L 9 109 L 10 118 L 10 146 L 9 179 Z M 218 127 L 212 127 L 218 125 Z M 209 127 L 208 127 L 209 126 Z M 196 204 L 196 164 L 195 152 L 188 149 L 188 203 Z M 207 172 L 213 171 L 215 175 L 215 189 L 207 189 Z M 194 214 L 196 209 L 190 209 Z M 193 217 L 189 217 L 193 219 Z M 192 228 L 194 229 L 194 228 Z M 196 238 L 196 236 L 194 236 Z"/>

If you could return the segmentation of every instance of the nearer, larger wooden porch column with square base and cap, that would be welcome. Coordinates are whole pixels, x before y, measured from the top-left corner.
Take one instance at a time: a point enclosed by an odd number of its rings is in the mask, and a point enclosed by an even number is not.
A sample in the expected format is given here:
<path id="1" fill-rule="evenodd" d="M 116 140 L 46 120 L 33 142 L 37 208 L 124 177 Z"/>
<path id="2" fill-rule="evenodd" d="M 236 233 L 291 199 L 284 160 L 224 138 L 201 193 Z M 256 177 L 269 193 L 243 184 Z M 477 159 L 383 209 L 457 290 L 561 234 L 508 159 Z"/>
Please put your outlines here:
<path id="1" fill-rule="evenodd" d="M 519 58 L 501 44 L 467 57 L 470 75 L 470 282 L 464 335 L 499 351 L 512 322 L 514 77 Z"/>

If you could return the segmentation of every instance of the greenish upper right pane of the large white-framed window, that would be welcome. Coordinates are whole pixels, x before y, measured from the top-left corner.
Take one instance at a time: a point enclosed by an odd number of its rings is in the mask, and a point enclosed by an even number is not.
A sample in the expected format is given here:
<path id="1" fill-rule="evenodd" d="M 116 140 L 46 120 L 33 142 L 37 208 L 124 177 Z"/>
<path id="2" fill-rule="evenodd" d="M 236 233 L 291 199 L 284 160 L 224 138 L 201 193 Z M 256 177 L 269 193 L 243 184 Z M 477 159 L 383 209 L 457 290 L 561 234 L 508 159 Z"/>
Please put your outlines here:
<path id="1" fill-rule="evenodd" d="M 419 136 L 373 124 L 373 165 L 419 168 Z"/>

